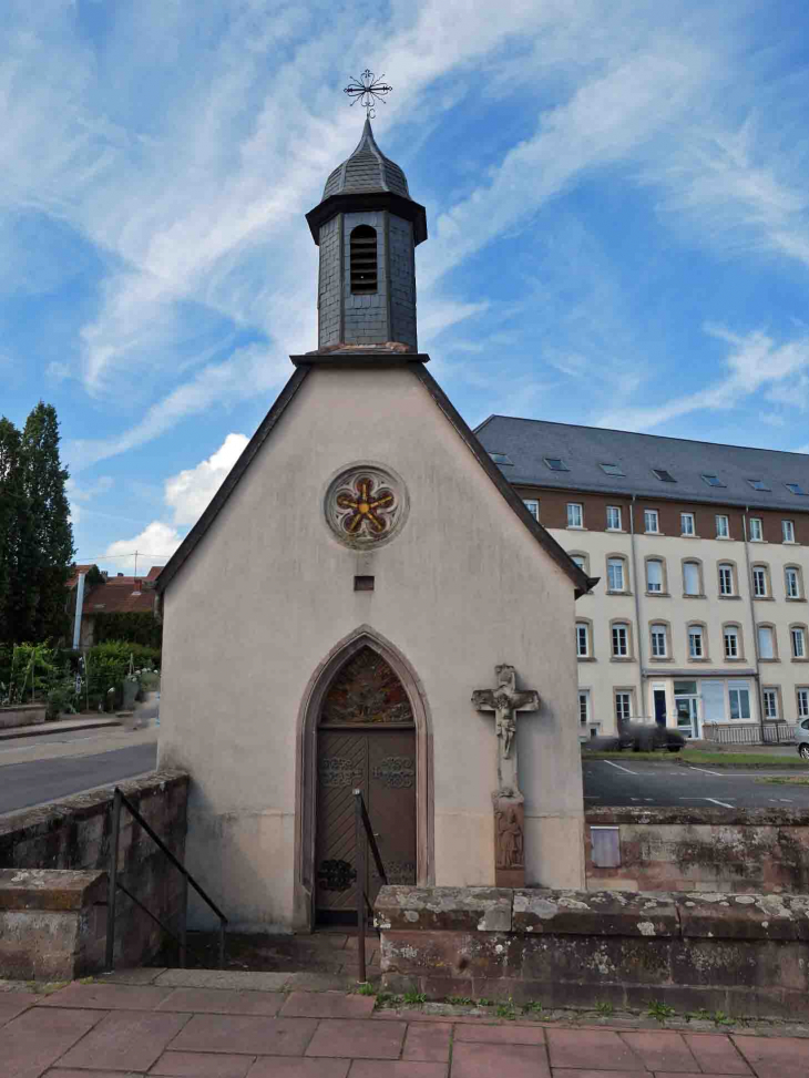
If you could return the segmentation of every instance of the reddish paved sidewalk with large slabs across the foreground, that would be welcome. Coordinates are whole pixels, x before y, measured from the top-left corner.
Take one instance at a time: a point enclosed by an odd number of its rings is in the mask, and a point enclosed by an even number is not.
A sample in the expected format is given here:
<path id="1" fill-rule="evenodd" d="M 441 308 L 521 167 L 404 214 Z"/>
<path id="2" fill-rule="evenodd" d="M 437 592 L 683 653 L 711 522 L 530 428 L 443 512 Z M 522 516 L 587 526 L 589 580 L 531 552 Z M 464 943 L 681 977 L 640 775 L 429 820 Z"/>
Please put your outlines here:
<path id="1" fill-rule="evenodd" d="M 145 973 L 145 971 L 144 971 Z M 807 1078 L 809 1038 L 373 1013 L 345 992 L 74 982 L 0 995 L 3 1078 Z M 237 984 L 239 974 L 214 974 Z M 278 975 L 259 975 L 273 977 Z M 255 976 L 242 975 L 256 984 Z M 137 979 L 137 978 L 132 978 Z M 177 981 L 185 985 L 177 986 Z M 187 983 L 191 979 L 191 985 Z M 267 982 L 265 982 L 267 983 Z"/>

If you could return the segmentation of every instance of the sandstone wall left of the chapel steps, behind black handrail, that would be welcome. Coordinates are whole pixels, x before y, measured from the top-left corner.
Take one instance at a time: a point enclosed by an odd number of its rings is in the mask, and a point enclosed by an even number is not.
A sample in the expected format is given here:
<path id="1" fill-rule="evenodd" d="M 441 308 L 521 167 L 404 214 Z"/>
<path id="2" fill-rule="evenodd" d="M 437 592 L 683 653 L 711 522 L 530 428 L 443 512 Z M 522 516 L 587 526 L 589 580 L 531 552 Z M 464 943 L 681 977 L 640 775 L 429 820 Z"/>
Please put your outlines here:
<path id="1" fill-rule="evenodd" d="M 182 861 L 187 774 L 156 771 L 119 786 Z M 0 819 L 0 870 L 16 870 L 0 879 L 0 976 L 60 979 L 102 968 L 113 793 L 114 787 L 102 787 Z M 176 932 L 182 876 L 126 809 L 119 879 Z M 116 965 L 145 962 L 165 943 L 122 892 L 115 924 Z"/>

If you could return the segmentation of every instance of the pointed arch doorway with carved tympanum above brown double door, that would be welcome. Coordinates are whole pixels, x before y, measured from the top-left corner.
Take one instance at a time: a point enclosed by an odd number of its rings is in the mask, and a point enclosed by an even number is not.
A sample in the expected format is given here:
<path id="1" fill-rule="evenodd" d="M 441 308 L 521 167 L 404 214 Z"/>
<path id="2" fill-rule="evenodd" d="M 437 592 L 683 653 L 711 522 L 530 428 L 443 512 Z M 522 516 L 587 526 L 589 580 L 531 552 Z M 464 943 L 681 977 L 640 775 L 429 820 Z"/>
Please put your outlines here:
<path id="1" fill-rule="evenodd" d="M 315 923 L 357 923 L 354 790 L 362 791 L 389 883 L 417 880 L 416 722 L 385 656 L 361 646 L 337 670 L 317 718 Z M 367 859 L 365 891 L 381 886 Z"/>

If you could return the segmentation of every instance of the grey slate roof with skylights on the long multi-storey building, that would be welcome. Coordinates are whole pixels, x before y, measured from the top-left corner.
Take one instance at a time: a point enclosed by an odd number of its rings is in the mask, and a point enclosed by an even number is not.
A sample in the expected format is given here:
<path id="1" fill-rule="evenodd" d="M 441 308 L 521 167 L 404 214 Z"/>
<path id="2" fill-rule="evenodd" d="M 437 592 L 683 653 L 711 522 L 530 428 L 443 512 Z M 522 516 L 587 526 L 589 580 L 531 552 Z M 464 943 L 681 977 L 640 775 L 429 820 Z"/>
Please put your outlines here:
<path id="1" fill-rule="evenodd" d="M 508 415 L 490 415 L 475 434 L 487 452 L 509 458 L 512 463 L 499 468 L 516 485 L 809 511 L 809 455 L 805 453 Z M 566 465 L 564 471 L 554 471 L 546 463 L 557 459 Z M 624 474 L 610 474 L 603 464 L 617 464 Z M 662 481 L 653 469 L 665 470 L 674 482 Z M 716 475 L 723 485 L 711 486 L 703 475 Z M 769 490 L 756 490 L 754 481 Z M 798 484 L 805 493 L 792 493 L 788 483 Z"/>

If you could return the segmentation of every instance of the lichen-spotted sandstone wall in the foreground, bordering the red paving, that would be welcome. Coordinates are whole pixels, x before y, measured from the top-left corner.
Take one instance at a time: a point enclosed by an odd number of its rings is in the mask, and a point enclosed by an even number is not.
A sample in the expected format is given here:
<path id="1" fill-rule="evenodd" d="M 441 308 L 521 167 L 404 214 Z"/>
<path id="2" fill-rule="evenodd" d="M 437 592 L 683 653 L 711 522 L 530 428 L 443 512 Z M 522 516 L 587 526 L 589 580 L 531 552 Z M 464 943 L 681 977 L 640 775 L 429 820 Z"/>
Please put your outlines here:
<path id="1" fill-rule="evenodd" d="M 388 886 L 375 912 L 392 992 L 809 1017 L 809 895 Z"/>

